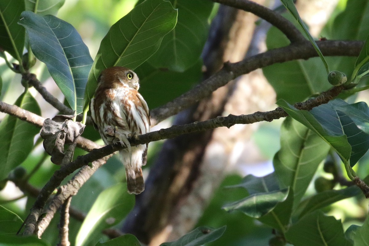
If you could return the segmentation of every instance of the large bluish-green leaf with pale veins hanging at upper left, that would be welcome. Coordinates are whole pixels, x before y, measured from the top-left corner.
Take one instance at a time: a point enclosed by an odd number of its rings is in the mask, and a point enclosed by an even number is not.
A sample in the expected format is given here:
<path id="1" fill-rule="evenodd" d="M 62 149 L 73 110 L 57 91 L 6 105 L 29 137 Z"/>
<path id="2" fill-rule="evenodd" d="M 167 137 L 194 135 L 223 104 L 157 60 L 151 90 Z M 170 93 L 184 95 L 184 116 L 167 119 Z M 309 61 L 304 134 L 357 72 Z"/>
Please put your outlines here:
<path id="1" fill-rule="evenodd" d="M 44 62 L 72 110 L 83 110 L 83 95 L 92 58 L 76 29 L 53 15 L 24 11 L 23 25 L 35 56 Z"/>

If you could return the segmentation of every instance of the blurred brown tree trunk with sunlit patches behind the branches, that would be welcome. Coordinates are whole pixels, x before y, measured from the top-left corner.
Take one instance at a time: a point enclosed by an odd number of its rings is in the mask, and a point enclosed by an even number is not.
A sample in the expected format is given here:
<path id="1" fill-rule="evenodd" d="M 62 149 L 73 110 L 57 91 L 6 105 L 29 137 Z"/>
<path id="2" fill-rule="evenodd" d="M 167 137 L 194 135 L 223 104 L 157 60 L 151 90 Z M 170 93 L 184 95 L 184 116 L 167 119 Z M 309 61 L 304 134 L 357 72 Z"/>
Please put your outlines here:
<path id="1" fill-rule="evenodd" d="M 265 0 L 256 2 L 263 4 Z M 263 41 L 268 24 L 263 21 L 255 30 L 256 20 L 253 14 L 220 6 L 203 50 L 205 78 L 221 69 L 224 62 L 237 62 L 246 52 L 255 55 L 266 49 Z M 179 113 L 173 124 L 267 111 L 274 103 L 274 90 L 262 71 L 256 70 Z M 249 140 L 257 127 L 258 124 L 235 125 L 168 139 L 151 167 L 144 193 L 136 196 L 135 208 L 123 231 L 156 246 L 191 230 L 225 173 L 236 163 L 250 163 L 253 156 L 259 156 Z"/>

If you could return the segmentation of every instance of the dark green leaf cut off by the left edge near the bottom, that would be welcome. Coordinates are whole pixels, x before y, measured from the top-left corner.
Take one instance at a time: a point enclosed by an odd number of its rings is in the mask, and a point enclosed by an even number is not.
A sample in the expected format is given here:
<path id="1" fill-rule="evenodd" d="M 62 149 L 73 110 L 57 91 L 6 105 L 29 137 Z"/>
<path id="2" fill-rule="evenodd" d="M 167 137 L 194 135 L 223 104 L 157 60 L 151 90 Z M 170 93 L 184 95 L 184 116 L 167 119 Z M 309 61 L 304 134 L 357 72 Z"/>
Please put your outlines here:
<path id="1" fill-rule="evenodd" d="M 17 214 L 0 205 L 0 235 L 15 236 L 22 223 Z"/>

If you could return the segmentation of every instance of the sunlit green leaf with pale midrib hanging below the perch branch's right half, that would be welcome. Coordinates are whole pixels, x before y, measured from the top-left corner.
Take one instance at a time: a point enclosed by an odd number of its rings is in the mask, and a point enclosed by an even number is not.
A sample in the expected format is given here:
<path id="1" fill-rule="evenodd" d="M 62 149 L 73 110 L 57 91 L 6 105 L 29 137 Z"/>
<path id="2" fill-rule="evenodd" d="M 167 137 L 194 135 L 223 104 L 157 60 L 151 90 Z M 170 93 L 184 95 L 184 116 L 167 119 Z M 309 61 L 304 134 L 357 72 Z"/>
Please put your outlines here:
<path id="1" fill-rule="evenodd" d="M 327 156 L 330 146 L 315 132 L 291 117 L 287 117 L 280 132 L 280 150 L 273 159 L 275 175 L 281 188 L 294 191 L 296 206 L 313 179 L 319 163 Z"/>

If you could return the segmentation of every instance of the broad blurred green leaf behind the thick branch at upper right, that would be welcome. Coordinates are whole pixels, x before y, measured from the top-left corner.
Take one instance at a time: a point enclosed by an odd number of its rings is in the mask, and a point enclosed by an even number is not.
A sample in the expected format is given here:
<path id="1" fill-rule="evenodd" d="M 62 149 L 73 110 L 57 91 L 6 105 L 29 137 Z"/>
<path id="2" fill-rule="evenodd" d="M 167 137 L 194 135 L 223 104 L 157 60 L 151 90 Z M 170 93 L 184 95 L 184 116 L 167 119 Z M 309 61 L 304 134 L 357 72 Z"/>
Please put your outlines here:
<path id="1" fill-rule="evenodd" d="M 291 15 L 284 17 L 292 22 L 295 21 Z M 268 50 L 288 44 L 289 40 L 278 28 L 270 28 L 266 36 Z M 288 103 L 295 103 L 328 90 L 331 84 L 328 83 L 327 73 L 323 66 L 320 66 L 318 59 L 293 60 L 263 67 L 265 77 L 276 91 L 277 100 L 284 99 Z M 290 93 L 291 91 L 293 93 Z"/>

